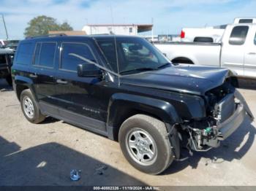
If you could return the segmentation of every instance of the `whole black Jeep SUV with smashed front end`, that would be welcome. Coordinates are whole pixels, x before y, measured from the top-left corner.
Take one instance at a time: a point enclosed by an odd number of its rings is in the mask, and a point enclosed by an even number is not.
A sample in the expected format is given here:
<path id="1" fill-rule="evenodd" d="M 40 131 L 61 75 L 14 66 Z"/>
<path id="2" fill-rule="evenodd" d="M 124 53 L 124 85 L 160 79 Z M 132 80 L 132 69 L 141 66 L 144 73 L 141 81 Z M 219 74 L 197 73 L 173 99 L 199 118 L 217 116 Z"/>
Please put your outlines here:
<path id="1" fill-rule="evenodd" d="M 56 117 L 120 143 L 135 168 L 159 174 L 218 147 L 246 114 L 228 69 L 174 66 L 135 36 L 48 36 L 20 42 L 13 87 L 27 120 Z"/>

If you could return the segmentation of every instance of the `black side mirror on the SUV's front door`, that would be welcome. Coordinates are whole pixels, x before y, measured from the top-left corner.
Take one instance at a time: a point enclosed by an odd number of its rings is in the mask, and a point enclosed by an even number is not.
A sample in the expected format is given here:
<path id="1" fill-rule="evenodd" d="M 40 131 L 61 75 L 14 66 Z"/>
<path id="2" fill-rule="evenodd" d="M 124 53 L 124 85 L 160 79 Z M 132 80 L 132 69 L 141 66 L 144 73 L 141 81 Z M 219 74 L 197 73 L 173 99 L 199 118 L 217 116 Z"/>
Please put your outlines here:
<path id="1" fill-rule="evenodd" d="M 78 64 L 78 77 L 102 77 L 102 70 L 92 63 Z"/>

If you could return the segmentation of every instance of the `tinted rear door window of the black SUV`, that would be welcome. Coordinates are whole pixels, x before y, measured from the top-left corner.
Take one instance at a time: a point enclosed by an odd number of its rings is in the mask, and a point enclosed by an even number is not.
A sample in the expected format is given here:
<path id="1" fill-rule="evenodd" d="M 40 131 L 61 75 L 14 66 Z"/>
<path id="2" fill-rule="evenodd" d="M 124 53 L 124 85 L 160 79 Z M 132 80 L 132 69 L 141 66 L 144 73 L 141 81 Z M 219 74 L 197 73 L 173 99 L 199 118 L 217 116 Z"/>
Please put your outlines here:
<path id="1" fill-rule="evenodd" d="M 56 45 L 56 42 L 37 43 L 34 52 L 34 65 L 52 68 L 55 59 Z"/>

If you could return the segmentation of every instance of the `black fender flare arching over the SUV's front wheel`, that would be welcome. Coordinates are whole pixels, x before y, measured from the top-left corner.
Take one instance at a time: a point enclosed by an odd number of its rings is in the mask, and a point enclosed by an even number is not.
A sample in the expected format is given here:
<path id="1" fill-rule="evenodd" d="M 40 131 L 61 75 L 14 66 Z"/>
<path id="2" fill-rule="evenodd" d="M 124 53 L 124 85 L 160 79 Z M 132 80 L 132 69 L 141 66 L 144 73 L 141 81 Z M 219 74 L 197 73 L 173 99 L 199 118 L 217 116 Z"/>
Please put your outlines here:
<path id="1" fill-rule="evenodd" d="M 146 114 L 168 124 L 181 123 L 176 109 L 167 101 L 117 93 L 111 97 L 108 106 L 108 137 L 118 141 L 121 124 L 135 114 Z"/>

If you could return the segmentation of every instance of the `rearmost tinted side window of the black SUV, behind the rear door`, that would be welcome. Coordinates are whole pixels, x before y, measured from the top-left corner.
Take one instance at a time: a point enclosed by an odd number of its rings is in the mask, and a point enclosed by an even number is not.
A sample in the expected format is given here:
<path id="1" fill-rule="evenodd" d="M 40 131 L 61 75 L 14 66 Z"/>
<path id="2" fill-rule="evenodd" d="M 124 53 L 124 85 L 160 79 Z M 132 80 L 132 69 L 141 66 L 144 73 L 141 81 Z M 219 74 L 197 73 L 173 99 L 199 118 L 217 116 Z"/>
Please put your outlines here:
<path id="1" fill-rule="evenodd" d="M 18 64 L 29 64 L 33 56 L 33 49 L 31 42 L 21 42 L 18 47 L 16 62 Z"/>

